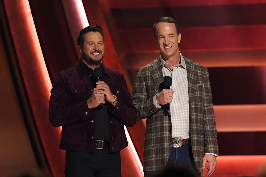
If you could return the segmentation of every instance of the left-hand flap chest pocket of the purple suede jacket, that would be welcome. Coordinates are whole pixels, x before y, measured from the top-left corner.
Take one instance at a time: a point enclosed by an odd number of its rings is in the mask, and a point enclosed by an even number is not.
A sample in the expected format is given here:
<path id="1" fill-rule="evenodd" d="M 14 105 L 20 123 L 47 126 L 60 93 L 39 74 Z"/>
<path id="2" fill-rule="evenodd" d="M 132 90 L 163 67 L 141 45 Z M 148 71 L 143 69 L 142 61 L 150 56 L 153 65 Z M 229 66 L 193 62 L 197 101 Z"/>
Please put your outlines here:
<path id="1" fill-rule="evenodd" d="M 66 88 L 68 105 L 75 105 L 84 101 L 85 91 L 85 86 L 68 86 Z"/>

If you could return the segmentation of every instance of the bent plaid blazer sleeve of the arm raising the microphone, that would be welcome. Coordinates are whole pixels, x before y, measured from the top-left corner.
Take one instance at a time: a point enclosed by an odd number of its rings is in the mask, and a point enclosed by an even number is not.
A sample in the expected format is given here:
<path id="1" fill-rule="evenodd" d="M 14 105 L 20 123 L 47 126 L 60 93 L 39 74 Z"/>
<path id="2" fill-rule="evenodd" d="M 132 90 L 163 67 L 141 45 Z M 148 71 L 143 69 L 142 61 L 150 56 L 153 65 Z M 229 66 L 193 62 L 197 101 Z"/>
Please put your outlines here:
<path id="1" fill-rule="evenodd" d="M 155 85 L 154 85 L 155 86 Z M 141 69 L 138 71 L 132 91 L 132 100 L 137 108 L 137 120 L 151 117 L 160 109 L 153 103 L 153 96 L 147 98 L 146 82 L 144 81 Z"/>

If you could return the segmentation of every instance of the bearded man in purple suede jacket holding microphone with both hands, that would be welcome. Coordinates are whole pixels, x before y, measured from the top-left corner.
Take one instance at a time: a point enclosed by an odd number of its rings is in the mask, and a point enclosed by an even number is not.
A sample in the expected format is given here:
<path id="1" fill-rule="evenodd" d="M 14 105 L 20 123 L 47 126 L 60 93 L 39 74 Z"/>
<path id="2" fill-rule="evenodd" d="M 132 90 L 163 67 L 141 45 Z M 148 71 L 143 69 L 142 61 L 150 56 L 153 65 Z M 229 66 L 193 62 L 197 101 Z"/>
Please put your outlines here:
<path id="1" fill-rule="evenodd" d="M 136 123 L 136 108 L 123 75 L 105 67 L 102 28 L 79 32 L 81 59 L 57 74 L 49 103 L 50 122 L 62 126 L 65 176 L 121 176 L 120 150 L 128 143 L 124 125 Z M 95 68 L 102 80 L 95 81 Z"/>

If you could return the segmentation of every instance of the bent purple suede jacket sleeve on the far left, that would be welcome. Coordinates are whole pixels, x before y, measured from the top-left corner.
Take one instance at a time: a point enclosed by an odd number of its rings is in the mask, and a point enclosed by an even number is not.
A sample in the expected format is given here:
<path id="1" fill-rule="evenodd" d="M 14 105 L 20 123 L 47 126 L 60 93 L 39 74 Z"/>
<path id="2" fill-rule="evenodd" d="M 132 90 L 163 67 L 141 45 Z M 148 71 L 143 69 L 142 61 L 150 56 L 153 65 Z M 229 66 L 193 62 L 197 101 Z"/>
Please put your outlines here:
<path id="1" fill-rule="evenodd" d="M 73 106 L 67 105 L 66 78 L 58 73 L 49 102 L 49 118 L 54 127 L 66 126 L 78 120 L 92 116 L 87 101 L 80 102 Z"/>

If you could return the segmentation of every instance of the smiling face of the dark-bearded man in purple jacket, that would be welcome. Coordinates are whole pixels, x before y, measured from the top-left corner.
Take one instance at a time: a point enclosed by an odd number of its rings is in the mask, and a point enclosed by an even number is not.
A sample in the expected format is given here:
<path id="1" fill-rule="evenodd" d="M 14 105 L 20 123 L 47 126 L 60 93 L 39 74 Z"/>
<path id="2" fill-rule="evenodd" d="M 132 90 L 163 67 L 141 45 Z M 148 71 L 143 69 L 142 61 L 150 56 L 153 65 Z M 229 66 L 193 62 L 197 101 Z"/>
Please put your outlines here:
<path id="1" fill-rule="evenodd" d="M 104 58 L 104 40 L 99 32 L 84 34 L 83 46 L 79 46 L 81 59 L 89 67 L 99 66 Z"/>

